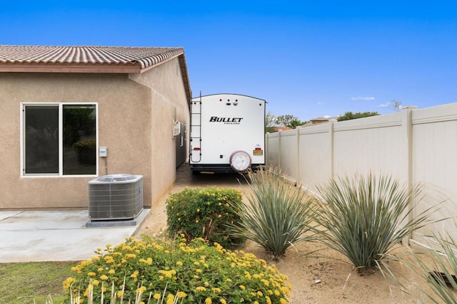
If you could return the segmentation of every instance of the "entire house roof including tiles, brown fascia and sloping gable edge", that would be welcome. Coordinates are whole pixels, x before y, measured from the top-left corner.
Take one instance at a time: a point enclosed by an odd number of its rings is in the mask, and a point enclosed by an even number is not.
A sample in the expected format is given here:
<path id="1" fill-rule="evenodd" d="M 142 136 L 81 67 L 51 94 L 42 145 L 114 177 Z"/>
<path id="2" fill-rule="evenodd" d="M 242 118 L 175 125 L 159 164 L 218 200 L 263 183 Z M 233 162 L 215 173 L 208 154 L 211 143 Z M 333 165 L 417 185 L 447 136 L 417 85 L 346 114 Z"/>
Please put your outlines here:
<path id="1" fill-rule="evenodd" d="M 173 58 L 179 59 L 190 99 L 189 73 L 181 47 L 0 45 L 0 72 L 143 73 Z"/>

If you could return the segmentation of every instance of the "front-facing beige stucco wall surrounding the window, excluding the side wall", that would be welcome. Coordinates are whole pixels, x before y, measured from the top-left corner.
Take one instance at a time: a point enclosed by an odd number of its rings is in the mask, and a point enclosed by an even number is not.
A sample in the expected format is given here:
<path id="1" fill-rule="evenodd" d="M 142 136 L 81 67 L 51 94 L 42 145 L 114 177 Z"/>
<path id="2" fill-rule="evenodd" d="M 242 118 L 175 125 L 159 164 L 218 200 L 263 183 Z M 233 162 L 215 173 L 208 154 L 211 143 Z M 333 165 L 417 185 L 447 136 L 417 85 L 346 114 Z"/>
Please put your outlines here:
<path id="1" fill-rule="evenodd" d="M 98 103 L 99 145 L 108 173 L 151 180 L 151 90 L 120 74 L 0 74 L 1 209 L 86 208 L 94 177 L 21 177 L 21 103 Z M 146 139 L 146 140 L 145 140 Z M 142 160 L 144 159 L 144 161 Z M 99 175 L 106 174 L 99 159 Z M 145 187 L 144 201 L 151 201 Z"/>

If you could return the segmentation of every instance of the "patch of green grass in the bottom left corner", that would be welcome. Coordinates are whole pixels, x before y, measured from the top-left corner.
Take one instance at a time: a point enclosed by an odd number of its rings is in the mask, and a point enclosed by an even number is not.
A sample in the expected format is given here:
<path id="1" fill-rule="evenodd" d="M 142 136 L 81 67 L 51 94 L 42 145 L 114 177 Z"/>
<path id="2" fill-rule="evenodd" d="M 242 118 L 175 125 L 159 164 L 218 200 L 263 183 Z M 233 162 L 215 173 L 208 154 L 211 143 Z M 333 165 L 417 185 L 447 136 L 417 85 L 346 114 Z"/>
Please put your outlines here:
<path id="1" fill-rule="evenodd" d="M 62 282 L 71 276 L 76 262 L 0 263 L 0 303 L 41 304 L 51 295 L 63 300 Z"/>

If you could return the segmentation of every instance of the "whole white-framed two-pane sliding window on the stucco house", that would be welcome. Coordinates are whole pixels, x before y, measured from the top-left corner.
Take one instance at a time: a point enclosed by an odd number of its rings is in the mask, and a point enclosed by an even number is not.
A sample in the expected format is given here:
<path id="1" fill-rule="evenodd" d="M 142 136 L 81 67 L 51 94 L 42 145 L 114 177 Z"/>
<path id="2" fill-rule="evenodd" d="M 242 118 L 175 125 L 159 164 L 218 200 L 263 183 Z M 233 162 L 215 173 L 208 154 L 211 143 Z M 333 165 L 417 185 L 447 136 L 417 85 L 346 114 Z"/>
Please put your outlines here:
<path id="1" fill-rule="evenodd" d="M 96 176 L 96 103 L 22 103 L 22 176 Z"/>

